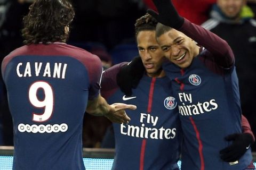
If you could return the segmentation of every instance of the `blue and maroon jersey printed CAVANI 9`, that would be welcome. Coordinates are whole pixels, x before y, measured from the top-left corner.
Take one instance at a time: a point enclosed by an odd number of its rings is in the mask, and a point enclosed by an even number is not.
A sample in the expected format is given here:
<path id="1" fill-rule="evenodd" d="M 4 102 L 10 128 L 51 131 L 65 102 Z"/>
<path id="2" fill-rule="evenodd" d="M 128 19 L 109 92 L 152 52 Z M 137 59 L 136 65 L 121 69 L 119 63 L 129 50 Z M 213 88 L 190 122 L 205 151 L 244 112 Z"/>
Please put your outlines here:
<path id="1" fill-rule="evenodd" d="M 13 169 L 85 169 L 82 126 L 99 95 L 100 59 L 64 43 L 22 46 L 4 58 L 13 117 Z"/>

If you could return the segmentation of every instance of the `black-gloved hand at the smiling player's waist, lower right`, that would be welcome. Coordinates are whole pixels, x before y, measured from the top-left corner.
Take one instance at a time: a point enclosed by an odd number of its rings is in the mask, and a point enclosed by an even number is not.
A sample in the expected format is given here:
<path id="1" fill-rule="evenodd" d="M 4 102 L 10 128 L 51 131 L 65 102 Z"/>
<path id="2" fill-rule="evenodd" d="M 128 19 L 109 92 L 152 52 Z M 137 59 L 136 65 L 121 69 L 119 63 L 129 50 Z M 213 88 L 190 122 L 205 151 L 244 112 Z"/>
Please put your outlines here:
<path id="1" fill-rule="evenodd" d="M 241 158 L 253 143 L 253 138 L 249 133 L 235 133 L 225 137 L 227 141 L 233 143 L 220 151 L 220 158 L 225 162 L 235 162 Z"/>

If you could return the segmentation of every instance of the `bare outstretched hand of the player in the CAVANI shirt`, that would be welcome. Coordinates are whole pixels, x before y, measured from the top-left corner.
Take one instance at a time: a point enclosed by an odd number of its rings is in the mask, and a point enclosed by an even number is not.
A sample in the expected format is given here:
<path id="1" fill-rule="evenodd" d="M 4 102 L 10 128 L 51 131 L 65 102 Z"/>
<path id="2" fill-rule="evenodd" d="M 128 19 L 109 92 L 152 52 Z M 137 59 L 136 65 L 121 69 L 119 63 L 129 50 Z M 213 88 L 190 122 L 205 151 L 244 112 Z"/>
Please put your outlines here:
<path id="1" fill-rule="evenodd" d="M 124 103 L 114 103 L 110 105 L 111 109 L 108 114 L 105 115 L 111 122 L 114 123 L 129 123 L 131 121 L 131 118 L 126 115 L 126 112 L 124 109 L 131 109 L 135 110 L 137 106 L 135 105 L 126 105 Z"/>

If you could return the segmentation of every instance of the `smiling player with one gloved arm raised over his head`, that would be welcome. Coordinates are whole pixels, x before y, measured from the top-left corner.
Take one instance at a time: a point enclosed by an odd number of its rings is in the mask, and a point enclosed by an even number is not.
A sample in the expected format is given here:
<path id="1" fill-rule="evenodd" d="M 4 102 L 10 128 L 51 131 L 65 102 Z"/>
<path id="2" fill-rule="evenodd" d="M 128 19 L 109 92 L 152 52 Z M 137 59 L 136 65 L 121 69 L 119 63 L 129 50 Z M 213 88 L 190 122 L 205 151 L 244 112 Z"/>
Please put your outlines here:
<path id="1" fill-rule="evenodd" d="M 182 18 L 169 0 L 153 2 L 159 15 L 149 13 L 165 24 L 157 25 L 156 37 L 171 61 L 164 62 L 163 69 L 172 81 L 184 134 L 181 169 L 254 169 L 253 134 L 241 133 L 238 81 L 229 45 Z"/>

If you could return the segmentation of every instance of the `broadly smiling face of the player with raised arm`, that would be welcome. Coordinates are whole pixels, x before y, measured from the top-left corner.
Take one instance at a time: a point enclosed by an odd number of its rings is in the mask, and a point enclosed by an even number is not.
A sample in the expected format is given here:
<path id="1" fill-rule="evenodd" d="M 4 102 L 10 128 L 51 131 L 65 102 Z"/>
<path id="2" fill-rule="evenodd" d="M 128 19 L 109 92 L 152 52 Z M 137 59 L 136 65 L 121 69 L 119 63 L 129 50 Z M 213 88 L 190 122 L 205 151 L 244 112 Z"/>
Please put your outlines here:
<path id="1" fill-rule="evenodd" d="M 181 68 L 190 66 L 193 58 L 199 54 L 199 46 L 184 33 L 175 29 L 157 37 L 165 57 Z"/>

